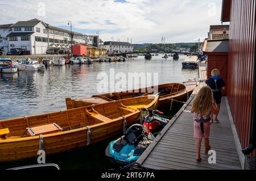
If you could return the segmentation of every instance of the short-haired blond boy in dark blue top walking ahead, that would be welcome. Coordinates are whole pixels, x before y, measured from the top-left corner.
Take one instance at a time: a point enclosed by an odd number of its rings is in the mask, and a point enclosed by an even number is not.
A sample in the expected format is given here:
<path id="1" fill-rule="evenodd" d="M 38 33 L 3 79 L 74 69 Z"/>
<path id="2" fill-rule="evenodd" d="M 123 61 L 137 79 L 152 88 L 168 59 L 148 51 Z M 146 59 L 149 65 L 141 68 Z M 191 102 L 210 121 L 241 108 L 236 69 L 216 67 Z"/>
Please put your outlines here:
<path id="1" fill-rule="evenodd" d="M 215 116 L 214 121 L 218 121 L 218 113 L 220 112 L 220 104 L 221 104 L 221 89 L 225 90 L 225 82 L 223 79 L 220 77 L 220 70 L 218 69 L 213 69 L 212 70 L 212 77 L 209 78 L 205 83 L 212 89 L 213 91 L 213 96 L 214 96 L 214 101 L 217 106 L 217 114 Z M 211 123 L 213 123 L 213 113 L 210 115 L 211 118 Z"/>

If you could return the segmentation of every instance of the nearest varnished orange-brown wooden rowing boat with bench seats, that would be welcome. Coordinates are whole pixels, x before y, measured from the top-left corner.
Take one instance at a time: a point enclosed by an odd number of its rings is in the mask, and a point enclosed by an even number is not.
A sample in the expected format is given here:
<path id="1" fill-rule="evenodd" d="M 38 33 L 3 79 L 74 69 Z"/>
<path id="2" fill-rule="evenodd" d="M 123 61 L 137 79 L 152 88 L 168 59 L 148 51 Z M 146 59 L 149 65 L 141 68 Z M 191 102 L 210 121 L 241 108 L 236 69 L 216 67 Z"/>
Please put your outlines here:
<path id="1" fill-rule="evenodd" d="M 142 96 L 43 115 L 2 120 L 0 121 L 0 162 L 37 157 L 39 146 L 43 146 L 47 155 L 105 140 L 122 133 L 124 125 L 127 128 L 138 122 L 141 117 L 138 108 L 155 108 L 158 100 L 159 95 Z M 39 127 L 48 127 L 48 125 L 57 125 L 58 132 L 42 133 L 43 145 L 40 145 L 42 135 L 31 136 L 31 130 L 35 133 L 35 129 L 39 130 Z M 1 132 L 7 129 L 10 133 L 1 135 Z M 46 132 L 47 129 L 39 131 Z"/>

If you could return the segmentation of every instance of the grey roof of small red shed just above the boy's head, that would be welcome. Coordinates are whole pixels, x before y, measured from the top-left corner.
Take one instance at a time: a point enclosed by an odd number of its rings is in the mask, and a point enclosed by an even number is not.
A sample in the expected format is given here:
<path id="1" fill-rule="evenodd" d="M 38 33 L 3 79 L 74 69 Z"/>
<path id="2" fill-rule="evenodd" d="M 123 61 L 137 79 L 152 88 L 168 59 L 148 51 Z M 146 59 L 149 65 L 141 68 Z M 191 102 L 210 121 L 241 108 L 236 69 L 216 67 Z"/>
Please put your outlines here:
<path id="1" fill-rule="evenodd" d="M 204 52 L 229 52 L 229 40 L 207 40 Z"/>

